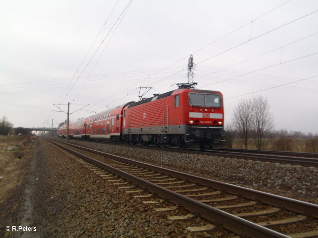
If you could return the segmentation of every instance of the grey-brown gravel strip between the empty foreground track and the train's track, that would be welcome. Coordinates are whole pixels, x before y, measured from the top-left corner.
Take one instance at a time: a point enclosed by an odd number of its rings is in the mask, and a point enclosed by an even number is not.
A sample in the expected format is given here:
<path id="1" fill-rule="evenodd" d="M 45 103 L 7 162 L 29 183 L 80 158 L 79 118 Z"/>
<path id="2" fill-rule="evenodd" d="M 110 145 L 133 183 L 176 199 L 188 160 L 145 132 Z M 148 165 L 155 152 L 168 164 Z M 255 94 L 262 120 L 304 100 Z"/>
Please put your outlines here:
<path id="1" fill-rule="evenodd" d="M 318 204 L 318 169 L 70 140 L 138 161 Z"/>

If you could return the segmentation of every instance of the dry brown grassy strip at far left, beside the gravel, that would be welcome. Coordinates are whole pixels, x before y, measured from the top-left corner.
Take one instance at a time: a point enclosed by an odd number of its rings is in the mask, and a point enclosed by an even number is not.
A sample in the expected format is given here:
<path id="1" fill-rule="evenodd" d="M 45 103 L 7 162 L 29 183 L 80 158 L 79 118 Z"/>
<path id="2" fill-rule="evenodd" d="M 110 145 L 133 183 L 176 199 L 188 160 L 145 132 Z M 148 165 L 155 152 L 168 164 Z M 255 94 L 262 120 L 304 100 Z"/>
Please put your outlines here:
<path id="1" fill-rule="evenodd" d="M 24 178 L 35 136 L 0 136 L 0 237 L 11 237 L 6 226 L 18 225 Z"/>

